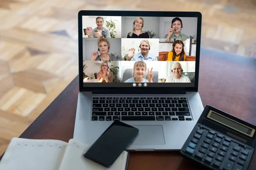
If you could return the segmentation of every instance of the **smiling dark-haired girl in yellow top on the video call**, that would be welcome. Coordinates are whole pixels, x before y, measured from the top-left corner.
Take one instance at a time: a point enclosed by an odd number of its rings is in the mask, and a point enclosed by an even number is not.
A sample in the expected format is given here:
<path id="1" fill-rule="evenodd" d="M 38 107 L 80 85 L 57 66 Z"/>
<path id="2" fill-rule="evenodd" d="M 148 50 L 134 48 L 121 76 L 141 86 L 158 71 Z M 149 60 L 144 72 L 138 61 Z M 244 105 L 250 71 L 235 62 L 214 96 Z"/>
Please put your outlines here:
<path id="1" fill-rule="evenodd" d="M 181 40 L 176 40 L 172 44 L 172 51 L 169 51 L 166 61 L 185 61 L 185 59 L 184 43 Z"/>

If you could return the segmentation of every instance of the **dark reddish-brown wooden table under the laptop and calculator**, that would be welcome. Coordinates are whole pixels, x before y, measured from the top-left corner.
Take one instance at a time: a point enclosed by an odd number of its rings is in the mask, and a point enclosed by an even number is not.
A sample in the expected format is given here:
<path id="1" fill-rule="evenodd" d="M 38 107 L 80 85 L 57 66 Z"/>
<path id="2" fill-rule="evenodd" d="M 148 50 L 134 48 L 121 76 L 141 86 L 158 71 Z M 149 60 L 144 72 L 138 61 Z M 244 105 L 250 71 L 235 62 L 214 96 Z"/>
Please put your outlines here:
<path id="1" fill-rule="evenodd" d="M 256 59 L 201 49 L 198 92 L 203 105 L 212 105 L 256 125 Z M 78 77 L 20 135 L 28 139 L 73 138 Z M 253 168 L 254 167 L 254 168 Z M 249 165 L 255 170 L 256 152 Z M 179 152 L 131 152 L 128 170 L 205 169 Z"/>

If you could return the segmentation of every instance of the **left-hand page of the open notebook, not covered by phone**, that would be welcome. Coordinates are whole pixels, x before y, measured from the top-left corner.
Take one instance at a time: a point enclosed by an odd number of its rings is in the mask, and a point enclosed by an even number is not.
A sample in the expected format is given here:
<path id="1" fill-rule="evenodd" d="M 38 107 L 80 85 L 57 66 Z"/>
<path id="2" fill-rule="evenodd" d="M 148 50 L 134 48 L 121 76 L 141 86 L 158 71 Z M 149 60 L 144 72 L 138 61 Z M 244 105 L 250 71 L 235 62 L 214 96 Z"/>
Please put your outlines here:
<path id="1" fill-rule="evenodd" d="M 59 140 L 13 138 L 0 170 L 58 170 L 67 147 Z"/>

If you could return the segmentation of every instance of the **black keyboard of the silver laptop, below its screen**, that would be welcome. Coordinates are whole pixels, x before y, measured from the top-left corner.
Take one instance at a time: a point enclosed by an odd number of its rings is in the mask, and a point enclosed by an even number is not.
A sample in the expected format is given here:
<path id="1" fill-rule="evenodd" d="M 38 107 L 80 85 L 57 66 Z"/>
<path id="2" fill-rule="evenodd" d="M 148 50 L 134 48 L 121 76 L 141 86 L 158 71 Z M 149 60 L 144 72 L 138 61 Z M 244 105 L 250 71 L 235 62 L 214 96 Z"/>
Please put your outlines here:
<path id="1" fill-rule="evenodd" d="M 93 97 L 93 121 L 191 121 L 186 97 Z"/>

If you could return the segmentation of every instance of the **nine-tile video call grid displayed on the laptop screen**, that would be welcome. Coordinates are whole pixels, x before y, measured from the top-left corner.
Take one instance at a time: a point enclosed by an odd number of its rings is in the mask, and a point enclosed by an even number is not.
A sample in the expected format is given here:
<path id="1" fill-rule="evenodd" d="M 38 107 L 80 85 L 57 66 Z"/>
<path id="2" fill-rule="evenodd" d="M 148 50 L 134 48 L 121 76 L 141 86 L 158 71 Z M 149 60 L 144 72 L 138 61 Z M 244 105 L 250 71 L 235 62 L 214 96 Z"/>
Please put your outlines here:
<path id="1" fill-rule="evenodd" d="M 142 34 L 131 34 L 135 27 L 135 30 L 142 28 Z M 168 35 L 170 28 L 172 31 Z M 175 31 L 178 34 L 175 35 Z M 132 78 L 136 77 L 133 70 L 136 61 L 144 61 L 147 67 L 142 82 L 146 82 L 147 87 L 195 85 L 197 17 L 82 16 L 82 36 L 84 87 L 131 87 L 131 82 L 134 81 Z M 102 41 L 98 45 L 99 39 Z M 185 60 L 173 61 L 173 44 L 176 44 L 176 48 L 183 46 L 180 50 L 183 55 L 178 57 L 183 56 Z M 134 56 L 128 59 L 131 49 L 134 49 Z M 110 61 L 102 64 L 101 52 L 109 54 Z M 147 54 L 146 59 L 141 57 L 143 52 Z M 179 53 L 179 49 L 177 52 Z M 182 75 L 186 76 L 182 81 L 174 79 L 172 65 L 177 65 L 175 62 L 181 64 Z M 109 81 L 111 83 L 97 83 L 99 71 L 102 70 L 100 68 L 106 67 L 104 65 L 108 65 L 111 72 L 107 76 L 112 80 Z M 154 75 L 151 82 L 148 82 L 148 73 Z"/>

